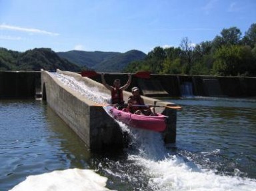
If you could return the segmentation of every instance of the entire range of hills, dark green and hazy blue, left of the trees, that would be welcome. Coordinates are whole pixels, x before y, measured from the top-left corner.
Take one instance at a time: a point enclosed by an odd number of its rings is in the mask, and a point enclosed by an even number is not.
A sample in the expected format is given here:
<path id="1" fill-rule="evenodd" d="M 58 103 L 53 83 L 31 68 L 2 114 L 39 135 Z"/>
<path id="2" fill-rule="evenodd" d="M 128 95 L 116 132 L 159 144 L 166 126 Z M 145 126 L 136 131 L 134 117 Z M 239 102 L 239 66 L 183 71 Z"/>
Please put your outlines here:
<path id="1" fill-rule="evenodd" d="M 129 63 L 141 61 L 147 55 L 132 50 L 126 53 L 69 51 L 55 53 L 41 48 L 25 51 L 11 51 L 0 47 L 0 71 L 81 71 L 93 69 L 98 72 L 122 72 Z"/>

